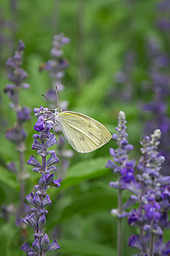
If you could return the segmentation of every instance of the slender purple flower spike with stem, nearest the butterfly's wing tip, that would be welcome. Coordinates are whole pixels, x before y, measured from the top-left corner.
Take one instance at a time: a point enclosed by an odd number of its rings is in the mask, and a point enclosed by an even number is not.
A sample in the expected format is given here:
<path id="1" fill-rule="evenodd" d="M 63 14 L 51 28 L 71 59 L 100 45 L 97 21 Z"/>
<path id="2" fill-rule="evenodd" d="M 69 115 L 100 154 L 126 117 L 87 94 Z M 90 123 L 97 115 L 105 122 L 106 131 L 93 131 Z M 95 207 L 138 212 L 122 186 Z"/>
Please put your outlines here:
<path id="1" fill-rule="evenodd" d="M 117 173 L 119 176 L 118 181 L 110 182 L 109 186 L 118 190 L 118 208 L 112 209 L 111 213 L 118 218 L 117 226 L 117 255 L 122 255 L 123 243 L 123 218 L 128 216 L 126 208 L 130 206 L 130 201 L 134 204 L 135 200 L 130 198 L 128 203 L 123 206 L 122 192 L 126 189 L 131 181 L 134 181 L 134 159 L 129 160 L 128 154 L 133 150 L 133 146 L 128 143 L 128 133 L 126 132 L 125 113 L 120 111 L 118 115 L 118 125 L 115 128 L 116 134 L 112 135 L 112 139 L 117 142 L 117 149 L 110 148 L 109 152 L 113 157 L 113 161 L 109 160 L 106 167 L 112 169 L 112 172 Z M 132 205 L 133 205 L 132 204 Z"/>

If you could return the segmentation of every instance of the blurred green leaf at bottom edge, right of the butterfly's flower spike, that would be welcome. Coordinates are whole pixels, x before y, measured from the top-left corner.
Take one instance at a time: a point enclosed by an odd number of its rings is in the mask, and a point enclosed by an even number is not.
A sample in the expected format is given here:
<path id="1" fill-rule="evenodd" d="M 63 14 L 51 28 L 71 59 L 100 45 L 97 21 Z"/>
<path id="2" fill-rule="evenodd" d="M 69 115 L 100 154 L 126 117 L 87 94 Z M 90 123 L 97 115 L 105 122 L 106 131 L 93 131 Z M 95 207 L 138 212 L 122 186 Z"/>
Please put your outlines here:
<path id="1" fill-rule="evenodd" d="M 111 247 L 90 241 L 63 239 L 59 244 L 63 255 L 116 256 L 115 250 Z"/>

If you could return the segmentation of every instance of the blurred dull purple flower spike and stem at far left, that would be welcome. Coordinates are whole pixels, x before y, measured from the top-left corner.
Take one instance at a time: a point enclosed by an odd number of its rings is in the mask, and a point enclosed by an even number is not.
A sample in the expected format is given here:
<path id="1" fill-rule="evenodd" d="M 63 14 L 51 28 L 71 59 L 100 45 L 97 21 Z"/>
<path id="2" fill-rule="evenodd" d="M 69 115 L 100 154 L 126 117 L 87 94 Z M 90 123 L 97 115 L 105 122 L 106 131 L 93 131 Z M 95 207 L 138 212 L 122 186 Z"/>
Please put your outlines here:
<path id="1" fill-rule="evenodd" d="M 9 107 L 12 108 L 16 114 L 15 125 L 6 132 L 6 138 L 16 145 L 20 158 L 19 170 L 15 167 L 14 162 L 7 165 L 9 170 L 15 171 L 18 175 L 18 180 L 20 181 L 20 206 L 16 217 L 16 224 L 18 225 L 21 224 L 20 218 L 23 217 L 25 211 L 23 196 L 25 193 L 24 151 L 26 150 L 25 140 L 27 135 L 26 131 L 23 129 L 23 124 L 31 118 L 31 110 L 27 107 L 21 107 L 19 104 L 20 89 L 28 89 L 29 87 L 28 83 L 23 83 L 28 77 L 26 71 L 21 67 L 23 50 L 25 50 L 25 45 L 22 40 L 19 40 L 18 50 L 15 51 L 14 56 L 10 57 L 6 63 L 9 69 L 8 78 L 10 82 L 4 89 L 4 92 L 11 101 Z"/>

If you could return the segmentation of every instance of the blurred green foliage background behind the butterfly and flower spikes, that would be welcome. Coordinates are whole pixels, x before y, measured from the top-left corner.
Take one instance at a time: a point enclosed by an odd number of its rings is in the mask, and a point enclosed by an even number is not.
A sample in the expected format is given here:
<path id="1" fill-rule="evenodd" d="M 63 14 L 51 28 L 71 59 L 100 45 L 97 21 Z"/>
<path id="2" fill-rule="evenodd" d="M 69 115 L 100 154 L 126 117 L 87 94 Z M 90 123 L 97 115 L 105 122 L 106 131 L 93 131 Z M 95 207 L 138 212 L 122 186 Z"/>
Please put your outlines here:
<path id="1" fill-rule="evenodd" d="M 26 45 L 23 68 L 28 72 L 26 82 L 30 85 L 30 89 L 20 91 L 20 105 L 31 109 L 47 105 L 41 94 L 52 88 L 52 80 L 46 71 L 39 72 L 39 66 L 51 59 L 53 36 L 63 32 L 71 42 L 63 47 L 69 67 L 62 80 L 65 89 L 60 93 L 60 100 L 69 102 L 69 110 L 101 121 L 111 133 L 115 131 L 118 112 L 123 110 L 128 121 L 129 142 L 135 148 L 131 158 L 139 159 L 139 140 L 150 118 L 142 112 L 142 105 L 152 99 L 152 91 L 142 87 L 149 80 L 147 40 L 151 37 L 157 40 L 169 54 L 169 35 L 156 26 L 161 15 L 157 3 L 155 0 L 1 0 L 0 38 L 5 37 L 0 45 L 1 208 L 18 206 L 19 182 L 5 168 L 11 161 L 18 165 L 18 152 L 5 139 L 5 132 L 15 122 L 15 113 L 3 92 L 8 83 L 5 62 L 17 48 L 18 40 L 22 39 Z M 117 83 L 120 71 L 128 66 L 128 82 Z M 31 154 L 36 156 L 31 150 L 36 122 L 33 111 L 31 116 L 25 125 L 26 161 Z M 66 147 L 70 148 L 69 144 Z M 109 188 L 109 181 L 116 177 L 105 168 L 110 147 L 115 147 L 113 141 L 90 154 L 75 152 L 61 189 L 49 189 L 52 206 L 48 208 L 46 232 L 61 245 L 58 252 L 49 255 L 117 255 L 116 219 L 109 214 L 110 209 L 117 207 L 117 191 Z M 27 195 L 39 180 L 39 174 L 33 173 L 28 165 L 26 173 Z M 7 220 L 1 216 L 0 220 L 1 255 L 23 255 L 15 216 L 9 214 Z M 24 232 L 31 244 L 32 230 L 28 228 Z M 125 222 L 124 255 L 135 253 L 128 247 L 128 237 L 133 233 L 136 230 Z"/>

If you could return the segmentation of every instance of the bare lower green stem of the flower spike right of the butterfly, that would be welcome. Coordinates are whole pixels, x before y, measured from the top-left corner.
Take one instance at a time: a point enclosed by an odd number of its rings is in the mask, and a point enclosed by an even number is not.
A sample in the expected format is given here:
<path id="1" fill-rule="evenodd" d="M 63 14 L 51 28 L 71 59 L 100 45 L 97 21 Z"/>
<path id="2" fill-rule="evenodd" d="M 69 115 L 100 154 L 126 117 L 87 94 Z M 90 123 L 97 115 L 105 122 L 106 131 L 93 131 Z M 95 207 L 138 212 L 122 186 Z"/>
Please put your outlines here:
<path id="1" fill-rule="evenodd" d="M 122 214 L 122 189 L 118 190 L 118 214 Z M 117 223 L 117 256 L 122 256 L 123 244 L 123 219 L 118 218 Z"/>

